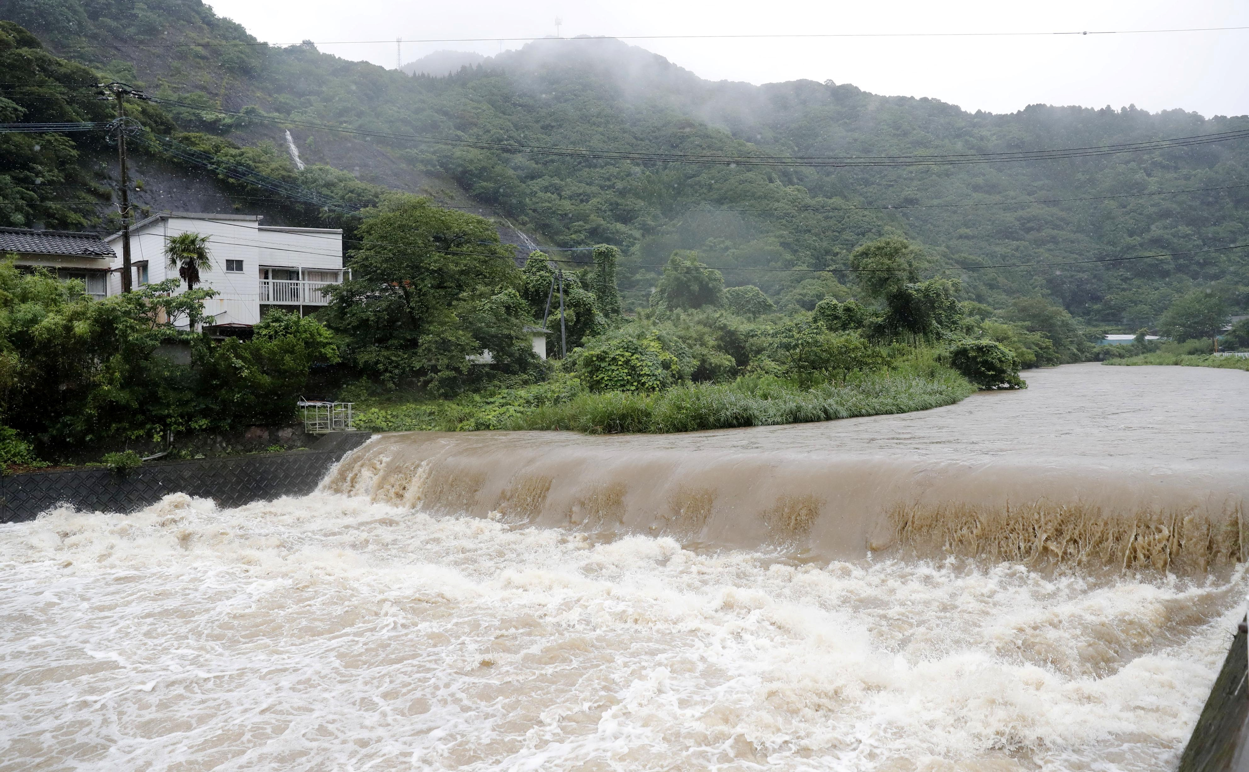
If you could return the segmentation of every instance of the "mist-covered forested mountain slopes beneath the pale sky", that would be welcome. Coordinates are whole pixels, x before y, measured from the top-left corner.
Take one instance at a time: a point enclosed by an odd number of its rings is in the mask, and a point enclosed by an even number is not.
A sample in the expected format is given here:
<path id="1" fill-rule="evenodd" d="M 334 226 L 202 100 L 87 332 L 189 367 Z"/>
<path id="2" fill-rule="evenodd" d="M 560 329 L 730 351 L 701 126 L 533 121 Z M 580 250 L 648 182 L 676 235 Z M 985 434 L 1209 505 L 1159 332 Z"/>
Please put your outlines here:
<path id="1" fill-rule="evenodd" d="M 61 56 L 204 107 L 164 106 L 184 130 L 274 142 L 259 151 L 274 165 L 289 162 L 281 125 L 212 110 L 530 146 L 747 156 L 1009 152 L 1249 129 L 1247 116 L 1182 110 L 1034 105 L 992 115 L 844 84 L 711 82 L 601 39 L 537 41 L 450 76 L 411 77 L 311 44 L 252 45 L 197 0 L 0 0 L 0 19 Z M 500 152 L 297 126 L 292 136 L 311 160 L 445 202 L 467 195 L 551 245 L 618 245 L 633 304 L 677 249 L 723 269 L 729 285 L 756 284 L 809 309 L 826 294 L 846 295 L 837 275 L 778 269 L 844 267 L 849 251 L 882 235 L 922 242 L 934 272 L 1249 242 L 1245 139 L 1063 160 L 814 169 Z M 1203 190 L 1170 192 L 1194 189 Z M 968 299 L 994 307 L 1047 295 L 1088 321 L 1135 330 L 1194 286 L 1244 309 L 1249 250 L 949 275 L 963 279 Z"/>

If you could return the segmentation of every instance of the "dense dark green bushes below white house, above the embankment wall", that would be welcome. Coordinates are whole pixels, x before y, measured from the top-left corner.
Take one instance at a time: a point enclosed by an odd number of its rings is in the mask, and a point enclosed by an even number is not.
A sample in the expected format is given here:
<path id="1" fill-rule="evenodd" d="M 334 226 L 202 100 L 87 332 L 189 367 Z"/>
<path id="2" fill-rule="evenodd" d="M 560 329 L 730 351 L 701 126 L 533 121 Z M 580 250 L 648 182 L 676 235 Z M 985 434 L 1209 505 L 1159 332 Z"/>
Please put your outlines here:
<path id="1" fill-rule="evenodd" d="M 176 280 L 101 301 L 79 281 L 0 264 L 0 436 L 9 463 L 106 438 L 172 430 L 240 428 L 294 417 L 313 362 L 336 356 L 312 319 L 274 314 L 250 341 L 221 344 L 195 327 L 211 290 L 175 291 Z M 159 321 L 164 320 L 164 321 Z M 179 364 L 190 349 L 191 365 Z"/>

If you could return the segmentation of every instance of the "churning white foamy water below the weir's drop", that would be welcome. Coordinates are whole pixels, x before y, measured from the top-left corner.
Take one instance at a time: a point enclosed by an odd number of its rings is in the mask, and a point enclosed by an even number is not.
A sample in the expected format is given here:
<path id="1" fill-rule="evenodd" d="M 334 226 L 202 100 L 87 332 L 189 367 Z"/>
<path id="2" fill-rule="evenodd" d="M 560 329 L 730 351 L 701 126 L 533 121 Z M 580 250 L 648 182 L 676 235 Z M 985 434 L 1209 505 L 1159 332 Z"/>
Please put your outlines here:
<path id="1" fill-rule="evenodd" d="M 1159 770 L 1244 591 L 505 520 L 0 526 L 0 770 Z"/>

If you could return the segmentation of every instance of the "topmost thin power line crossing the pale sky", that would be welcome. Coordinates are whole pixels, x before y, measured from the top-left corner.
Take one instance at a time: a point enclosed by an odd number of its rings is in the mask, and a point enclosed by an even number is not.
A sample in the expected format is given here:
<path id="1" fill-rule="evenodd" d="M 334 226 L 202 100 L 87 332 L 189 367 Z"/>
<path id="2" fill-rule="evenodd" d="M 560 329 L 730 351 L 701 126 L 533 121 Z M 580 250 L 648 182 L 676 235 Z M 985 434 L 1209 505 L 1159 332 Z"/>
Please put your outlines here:
<path id="1" fill-rule="evenodd" d="M 1230 32 L 1237 30 L 1249 30 L 1249 26 L 1205 26 L 1205 27 L 1170 27 L 1148 30 L 1050 30 L 1050 31 L 989 31 L 989 32 L 743 32 L 721 35 L 578 35 L 576 37 L 552 37 L 542 35 L 530 35 L 527 37 L 403 37 L 403 42 L 580 42 L 601 40 L 803 40 L 803 39 L 831 39 L 831 37 L 1054 37 L 1054 36 L 1087 36 L 1087 35 L 1160 35 L 1173 32 Z M 227 46 L 274 46 L 289 47 L 312 45 L 376 45 L 393 44 L 388 40 L 307 40 L 301 42 L 261 42 L 259 40 L 219 40 L 201 42 L 130 42 L 130 44 L 95 44 L 67 46 L 61 50 L 80 49 L 179 49 L 179 47 L 227 47 Z"/>

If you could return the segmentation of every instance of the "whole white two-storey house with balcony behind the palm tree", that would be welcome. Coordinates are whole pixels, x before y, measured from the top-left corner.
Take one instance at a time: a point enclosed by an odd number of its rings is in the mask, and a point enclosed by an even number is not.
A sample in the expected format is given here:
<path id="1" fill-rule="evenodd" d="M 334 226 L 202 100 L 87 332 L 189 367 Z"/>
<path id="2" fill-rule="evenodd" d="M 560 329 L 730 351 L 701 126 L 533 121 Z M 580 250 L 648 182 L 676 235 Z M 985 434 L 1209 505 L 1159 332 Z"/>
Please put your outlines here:
<path id="1" fill-rule="evenodd" d="M 165 245 L 180 234 L 207 236 L 211 261 L 200 272 L 219 295 L 204 304 L 215 325 L 251 326 L 269 309 L 307 314 L 330 302 L 322 287 L 342 284 L 342 230 L 261 225 L 257 215 L 161 212 L 130 229 L 134 285 L 177 279 Z M 121 234 L 106 239 L 116 256 L 109 295 L 121 291 Z"/>

